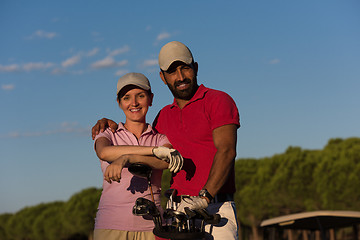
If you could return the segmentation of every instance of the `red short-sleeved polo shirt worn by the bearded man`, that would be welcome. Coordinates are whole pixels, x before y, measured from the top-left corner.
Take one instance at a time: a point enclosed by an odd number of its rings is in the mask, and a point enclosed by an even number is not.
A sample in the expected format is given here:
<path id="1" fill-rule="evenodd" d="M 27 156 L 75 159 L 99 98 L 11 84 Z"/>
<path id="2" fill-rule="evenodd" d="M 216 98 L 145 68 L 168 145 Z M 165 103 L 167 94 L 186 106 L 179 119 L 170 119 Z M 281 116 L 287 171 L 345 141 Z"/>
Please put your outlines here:
<path id="1" fill-rule="evenodd" d="M 240 127 L 239 112 L 226 93 L 199 86 L 193 98 L 180 109 L 175 100 L 158 114 L 154 127 L 165 134 L 184 157 L 183 169 L 173 175 L 171 188 L 179 194 L 196 196 L 205 185 L 216 153 L 212 130 L 235 124 Z M 235 192 L 234 166 L 219 193 Z"/>

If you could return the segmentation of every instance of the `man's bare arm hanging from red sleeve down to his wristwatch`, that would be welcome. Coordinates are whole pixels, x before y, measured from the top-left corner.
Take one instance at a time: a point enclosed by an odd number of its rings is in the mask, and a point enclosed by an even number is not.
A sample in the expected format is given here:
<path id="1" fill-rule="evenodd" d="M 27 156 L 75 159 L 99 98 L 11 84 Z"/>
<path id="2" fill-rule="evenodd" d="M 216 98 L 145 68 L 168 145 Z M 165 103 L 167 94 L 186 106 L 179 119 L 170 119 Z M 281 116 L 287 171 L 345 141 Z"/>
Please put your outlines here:
<path id="1" fill-rule="evenodd" d="M 237 126 L 224 125 L 213 130 L 217 152 L 210 169 L 209 178 L 203 187 L 214 197 L 224 185 L 236 157 Z"/>

